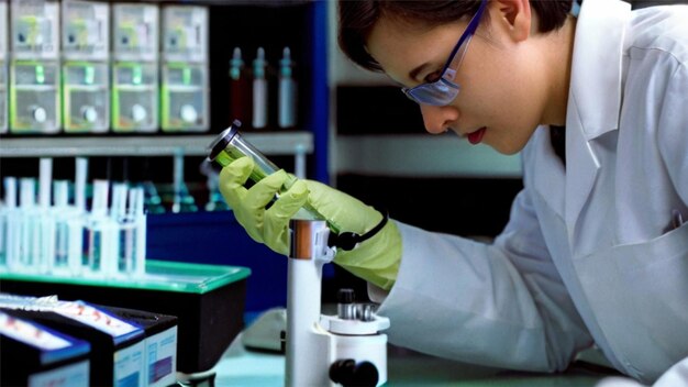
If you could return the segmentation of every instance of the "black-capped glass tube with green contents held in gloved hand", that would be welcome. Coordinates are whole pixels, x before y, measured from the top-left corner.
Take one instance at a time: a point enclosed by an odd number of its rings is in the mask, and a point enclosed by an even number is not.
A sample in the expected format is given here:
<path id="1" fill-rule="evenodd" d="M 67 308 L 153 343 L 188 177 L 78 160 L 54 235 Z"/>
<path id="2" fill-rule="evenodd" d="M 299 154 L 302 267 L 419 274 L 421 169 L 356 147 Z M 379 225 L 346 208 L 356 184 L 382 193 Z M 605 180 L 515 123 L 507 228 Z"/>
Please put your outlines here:
<path id="1" fill-rule="evenodd" d="M 247 156 L 253 158 L 255 167 L 251 172 L 248 178 L 254 183 L 259 181 L 266 176 L 279 170 L 278 166 L 270 162 L 260 153 L 260 151 L 242 136 L 238 132 L 241 125 L 242 123 L 238 120 L 234 120 L 230 128 L 222 131 L 222 133 L 220 133 L 208 147 L 208 158 L 211 162 L 218 163 L 222 167 L 230 165 L 230 163 L 241 157 Z M 297 177 L 289 175 L 289 179 L 284 184 L 285 190 L 291 188 L 296 181 Z M 297 217 L 299 219 L 326 220 L 330 230 L 335 233 L 340 232 L 340 228 L 336 224 L 333 224 L 330 220 L 320 214 L 318 210 L 310 206 L 310 203 L 307 202 L 303 206 L 303 209 L 308 213 L 298 213 Z"/>

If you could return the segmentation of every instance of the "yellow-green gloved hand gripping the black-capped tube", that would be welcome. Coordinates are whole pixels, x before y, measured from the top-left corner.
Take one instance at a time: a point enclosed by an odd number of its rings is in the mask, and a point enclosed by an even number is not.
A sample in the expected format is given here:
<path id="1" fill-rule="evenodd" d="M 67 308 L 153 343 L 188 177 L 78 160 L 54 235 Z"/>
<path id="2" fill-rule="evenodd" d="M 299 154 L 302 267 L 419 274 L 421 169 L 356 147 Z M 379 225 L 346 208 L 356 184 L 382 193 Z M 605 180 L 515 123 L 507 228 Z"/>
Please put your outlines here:
<path id="1" fill-rule="evenodd" d="M 248 235 L 279 254 L 288 254 L 289 219 L 307 200 L 329 222 L 336 224 L 340 232 L 363 235 L 382 220 L 382 214 L 374 208 L 313 180 L 296 180 L 266 210 L 266 204 L 293 177 L 279 170 L 246 189 L 244 184 L 253 167 L 254 162 L 248 157 L 242 157 L 224 167 L 220 173 L 220 191 Z M 400 259 L 401 235 L 396 223 L 390 221 L 354 250 L 339 250 L 334 263 L 389 290 L 397 279 Z"/>

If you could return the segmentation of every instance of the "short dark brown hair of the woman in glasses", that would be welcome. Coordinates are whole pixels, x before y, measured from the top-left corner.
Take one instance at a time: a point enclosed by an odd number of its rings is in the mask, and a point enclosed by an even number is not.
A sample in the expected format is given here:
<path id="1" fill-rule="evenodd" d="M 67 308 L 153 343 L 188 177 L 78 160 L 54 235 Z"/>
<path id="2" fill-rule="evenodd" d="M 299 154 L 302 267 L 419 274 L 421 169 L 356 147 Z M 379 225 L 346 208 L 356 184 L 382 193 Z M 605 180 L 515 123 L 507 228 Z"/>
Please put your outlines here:
<path id="1" fill-rule="evenodd" d="M 573 0 L 531 0 L 531 8 L 540 22 L 539 32 L 546 33 L 564 25 L 572 4 Z M 473 15 L 479 7 L 480 0 L 340 0 L 340 47 L 357 65 L 381 71 L 382 68 L 365 46 L 368 34 L 382 15 L 439 25 Z"/>

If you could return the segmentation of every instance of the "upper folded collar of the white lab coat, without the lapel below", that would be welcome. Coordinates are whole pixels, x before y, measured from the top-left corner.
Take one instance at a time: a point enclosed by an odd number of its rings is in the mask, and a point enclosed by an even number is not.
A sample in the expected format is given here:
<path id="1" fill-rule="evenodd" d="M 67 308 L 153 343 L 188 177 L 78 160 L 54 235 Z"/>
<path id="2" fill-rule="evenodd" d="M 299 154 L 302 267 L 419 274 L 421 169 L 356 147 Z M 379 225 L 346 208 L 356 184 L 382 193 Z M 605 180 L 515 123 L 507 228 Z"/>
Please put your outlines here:
<path id="1" fill-rule="evenodd" d="M 630 16 L 631 5 L 619 0 L 585 1 L 581 5 L 567 117 L 579 120 L 588 141 L 619 128 L 623 41 Z M 604 58 L 603 66 L 599 58 Z"/>

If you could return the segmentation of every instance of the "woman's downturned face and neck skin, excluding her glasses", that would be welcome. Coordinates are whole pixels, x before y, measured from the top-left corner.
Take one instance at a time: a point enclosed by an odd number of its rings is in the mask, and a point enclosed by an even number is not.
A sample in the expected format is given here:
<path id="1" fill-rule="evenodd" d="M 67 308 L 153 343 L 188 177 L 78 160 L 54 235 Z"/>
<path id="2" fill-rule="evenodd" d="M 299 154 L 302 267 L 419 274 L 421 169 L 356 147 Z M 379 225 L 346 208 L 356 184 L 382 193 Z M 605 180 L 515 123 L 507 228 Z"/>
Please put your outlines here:
<path id="1" fill-rule="evenodd" d="M 430 133 L 451 130 L 470 143 L 514 154 L 545 121 L 551 69 L 536 49 L 537 35 L 514 36 L 495 3 L 488 4 L 489 19 L 482 20 L 457 68 L 456 99 L 446 107 L 421 104 L 421 112 Z M 436 79 L 467 23 L 423 27 L 382 16 L 367 49 L 395 81 L 414 87 Z"/>

